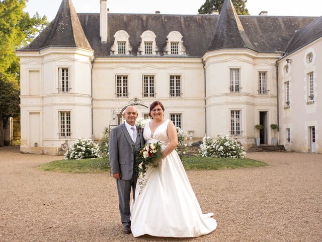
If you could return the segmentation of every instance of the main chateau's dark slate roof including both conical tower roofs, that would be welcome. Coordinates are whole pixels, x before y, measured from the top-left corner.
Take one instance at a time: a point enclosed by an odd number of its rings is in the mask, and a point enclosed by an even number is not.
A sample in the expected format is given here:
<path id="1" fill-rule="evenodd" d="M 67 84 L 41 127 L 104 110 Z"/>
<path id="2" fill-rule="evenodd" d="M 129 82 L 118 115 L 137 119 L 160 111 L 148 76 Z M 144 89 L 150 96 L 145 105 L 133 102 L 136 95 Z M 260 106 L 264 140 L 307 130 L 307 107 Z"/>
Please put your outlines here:
<path id="1" fill-rule="evenodd" d="M 230 1 L 226 0 L 224 6 L 226 11 L 221 11 L 220 18 L 218 15 L 109 13 L 108 39 L 102 43 L 100 15 L 76 14 L 71 1 L 63 0 L 56 18 L 31 44 L 21 50 L 38 51 L 48 46 L 78 46 L 93 49 L 96 57 L 110 56 L 114 34 L 118 30 L 125 30 L 130 35 L 131 54 L 135 56 L 141 40 L 140 35 L 145 30 L 151 30 L 156 35 L 156 44 L 162 54 L 167 44 L 167 35 L 176 30 L 183 35 L 186 53 L 192 57 L 201 57 L 209 49 L 234 46 L 250 48 L 257 52 L 280 52 L 286 50 L 288 42 L 297 30 L 316 19 L 316 17 L 237 16 L 227 2 Z M 232 32 L 227 31 L 229 29 Z"/>

